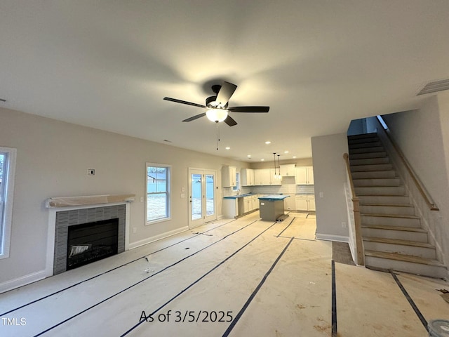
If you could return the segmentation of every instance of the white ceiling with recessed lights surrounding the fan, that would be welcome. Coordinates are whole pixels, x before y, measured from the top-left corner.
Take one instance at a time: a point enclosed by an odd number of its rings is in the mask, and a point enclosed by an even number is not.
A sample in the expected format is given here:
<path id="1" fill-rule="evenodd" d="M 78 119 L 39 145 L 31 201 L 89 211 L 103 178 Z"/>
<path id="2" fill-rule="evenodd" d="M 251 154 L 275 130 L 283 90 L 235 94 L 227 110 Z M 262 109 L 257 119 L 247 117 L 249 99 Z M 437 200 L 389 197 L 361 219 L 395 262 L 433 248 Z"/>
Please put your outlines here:
<path id="1" fill-rule="evenodd" d="M 0 0 L 0 107 L 244 161 L 311 157 L 312 136 L 417 107 L 449 77 L 448 32 L 448 0 Z M 213 122 L 182 122 L 203 110 L 163 97 L 204 104 L 222 80 L 230 106 L 270 111 L 232 113 L 217 151 Z"/>

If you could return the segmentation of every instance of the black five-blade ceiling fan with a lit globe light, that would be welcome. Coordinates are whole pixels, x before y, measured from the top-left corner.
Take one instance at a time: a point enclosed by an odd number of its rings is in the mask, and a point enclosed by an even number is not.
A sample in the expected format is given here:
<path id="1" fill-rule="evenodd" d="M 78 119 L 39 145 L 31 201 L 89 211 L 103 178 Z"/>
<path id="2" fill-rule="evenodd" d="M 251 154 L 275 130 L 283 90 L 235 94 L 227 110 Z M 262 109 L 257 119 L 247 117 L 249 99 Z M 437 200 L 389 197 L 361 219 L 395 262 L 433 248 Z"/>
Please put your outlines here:
<path id="1" fill-rule="evenodd" d="M 229 112 L 268 112 L 269 107 L 228 107 L 228 101 L 231 98 L 237 86 L 235 84 L 224 81 L 220 86 L 219 84 L 212 86 L 214 96 L 206 98 L 206 105 L 187 102 L 185 100 L 177 100 L 176 98 L 164 97 L 164 100 L 170 100 L 171 102 L 181 103 L 186 105 L 193 105 L 194 107 L 203 107 L 206 112 L 202 114 L 196 114 L 195 116 L 184 119 L 183 121 L 194 121 L 200 117 L 208 117 L 210 121 L 218 123 L 225 121 L 229 126 L 237 125 L 237 122 L 229 116 Z"/>

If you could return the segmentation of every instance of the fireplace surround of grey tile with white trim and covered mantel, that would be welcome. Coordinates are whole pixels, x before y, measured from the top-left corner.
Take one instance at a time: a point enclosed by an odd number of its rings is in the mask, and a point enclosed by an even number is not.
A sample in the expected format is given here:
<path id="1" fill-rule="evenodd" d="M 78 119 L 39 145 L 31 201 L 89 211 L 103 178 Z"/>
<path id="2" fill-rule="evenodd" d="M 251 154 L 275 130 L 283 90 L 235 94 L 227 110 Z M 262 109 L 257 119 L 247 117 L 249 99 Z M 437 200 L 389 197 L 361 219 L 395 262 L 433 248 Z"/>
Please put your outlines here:
<path id="1" fill-rule="evenodd" d="M 49 209 L 46 276 L 65 272 L 68 227 L 119 218 L 118 253 L 128 248 L 129 206 L 135 194 L 63 197 L 46 200 Z"/>

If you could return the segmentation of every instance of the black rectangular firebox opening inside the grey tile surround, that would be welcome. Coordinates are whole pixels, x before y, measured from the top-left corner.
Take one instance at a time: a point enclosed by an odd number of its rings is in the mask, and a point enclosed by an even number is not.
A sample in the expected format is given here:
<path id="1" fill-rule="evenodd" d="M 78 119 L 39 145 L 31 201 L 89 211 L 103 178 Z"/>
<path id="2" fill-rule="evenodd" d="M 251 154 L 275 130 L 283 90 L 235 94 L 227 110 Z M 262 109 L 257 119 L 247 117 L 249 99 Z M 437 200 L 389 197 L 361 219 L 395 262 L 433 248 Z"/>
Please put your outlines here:
<path id="1" fill-rule="evenodd" d="M 67 270 L 118 253 L 119 218 L 74 225 L 68 230 Z"/>

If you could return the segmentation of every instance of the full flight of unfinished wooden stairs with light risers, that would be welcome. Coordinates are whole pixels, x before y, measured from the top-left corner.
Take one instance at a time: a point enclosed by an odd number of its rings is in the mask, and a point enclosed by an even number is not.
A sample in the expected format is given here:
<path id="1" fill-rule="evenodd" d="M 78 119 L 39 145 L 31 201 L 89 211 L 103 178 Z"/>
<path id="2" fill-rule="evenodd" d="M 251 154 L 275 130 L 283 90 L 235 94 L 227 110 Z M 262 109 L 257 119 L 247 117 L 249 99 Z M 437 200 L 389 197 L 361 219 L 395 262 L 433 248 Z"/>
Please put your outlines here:
<path id="1" fill-rule="evenodd" d="M 415 207 L 376 133 L 349 136 L 349 162 L 360 199 L 366 267 L 445 277 Z"/>

